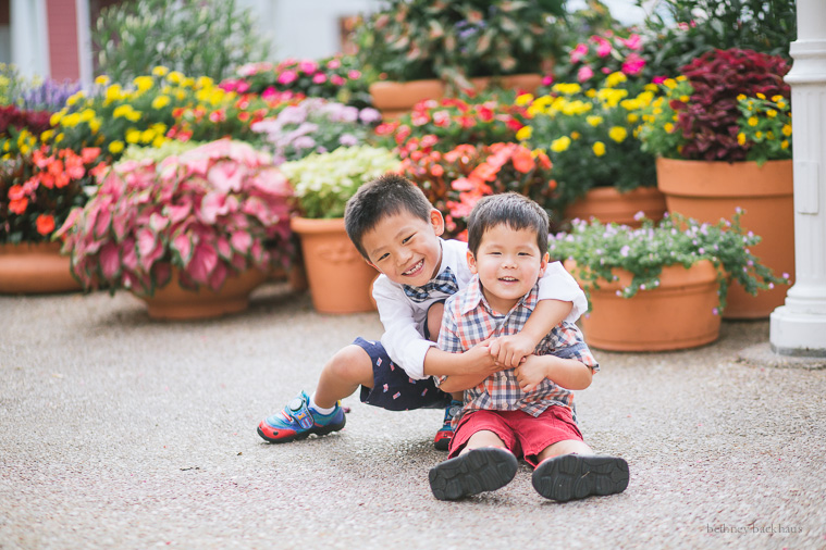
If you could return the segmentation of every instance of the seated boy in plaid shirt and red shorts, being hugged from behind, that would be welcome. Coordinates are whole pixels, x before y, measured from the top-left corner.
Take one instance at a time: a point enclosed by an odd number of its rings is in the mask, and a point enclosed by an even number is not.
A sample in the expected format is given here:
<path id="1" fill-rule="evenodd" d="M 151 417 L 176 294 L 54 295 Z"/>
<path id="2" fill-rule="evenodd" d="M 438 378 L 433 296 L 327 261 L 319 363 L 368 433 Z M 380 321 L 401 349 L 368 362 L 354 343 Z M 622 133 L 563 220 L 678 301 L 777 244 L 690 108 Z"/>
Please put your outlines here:
<path id="1" fill-rule="evenodd" d="M 441 349 L 459 353 L 522 329 L 547 267 L 547 233 L 545 211 L 521 195 L 477 203 L 467 253 L 474 277 L 445 303 Z M 430 471 L 433 495 L 455 500 L 498 489 L 516 475 L 517 457 L 534 466 L 533 487 L 545 498 L 624 491 L 626 461 L 594 455 L 572 416 L 570 390 L 590 386 L 599 368 L 577 326 L 564 321 L 516 368 L 436 377 L 440 389 L 465 390 L 465 399 L 449 459 Z"/>

